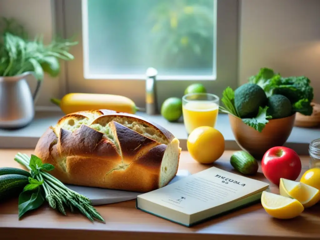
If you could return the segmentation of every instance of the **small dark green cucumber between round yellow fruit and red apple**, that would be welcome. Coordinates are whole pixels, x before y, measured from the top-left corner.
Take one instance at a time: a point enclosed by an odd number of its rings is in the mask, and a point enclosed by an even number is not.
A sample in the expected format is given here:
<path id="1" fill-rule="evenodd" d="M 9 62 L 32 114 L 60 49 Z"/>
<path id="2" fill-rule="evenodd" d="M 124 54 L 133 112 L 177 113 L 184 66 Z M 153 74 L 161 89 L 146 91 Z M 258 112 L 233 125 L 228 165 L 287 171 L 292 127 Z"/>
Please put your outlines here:
<path id="1" fill-rule="evenodd" d="M 257 160 L 245 151 L 235 152 L 230 157 L 230 164 L 245 175 L 256 174 L 259 168 Z"/>

